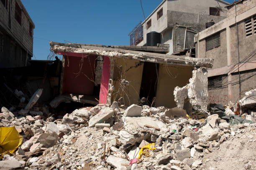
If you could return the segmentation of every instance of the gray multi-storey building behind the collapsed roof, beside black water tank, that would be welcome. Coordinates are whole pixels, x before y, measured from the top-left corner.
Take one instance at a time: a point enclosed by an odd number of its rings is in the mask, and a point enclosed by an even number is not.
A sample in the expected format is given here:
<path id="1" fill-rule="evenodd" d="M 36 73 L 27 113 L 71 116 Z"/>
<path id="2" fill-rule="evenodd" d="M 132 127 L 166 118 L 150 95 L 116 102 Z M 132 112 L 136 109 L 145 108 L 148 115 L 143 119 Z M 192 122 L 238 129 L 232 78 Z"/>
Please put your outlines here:
<path id="1" fill-rule="evenodd" d="M 161 44 L 169 44 L 168 54 L 189 49 L 205 23 L 218 23 L 226 17 L 223 7 L 228 4 L 223 0 L 163 0 L 133 31 L 130 44 L 146 45 L 147 33 L 156 31 L 161 33 Z"/>

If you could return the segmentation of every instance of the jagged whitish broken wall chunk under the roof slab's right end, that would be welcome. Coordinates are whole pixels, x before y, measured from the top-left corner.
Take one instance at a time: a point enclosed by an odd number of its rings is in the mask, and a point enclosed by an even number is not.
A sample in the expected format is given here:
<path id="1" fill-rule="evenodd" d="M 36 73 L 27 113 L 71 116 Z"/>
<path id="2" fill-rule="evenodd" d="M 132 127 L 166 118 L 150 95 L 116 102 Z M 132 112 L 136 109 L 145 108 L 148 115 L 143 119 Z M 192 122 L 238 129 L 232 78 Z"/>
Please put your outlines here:
<path id="1" fill-rule="evenodd" d="M 207 70 L 205 68 L 198 68 L 192 71 L 192 78 L 189 79 L 189 84 L 184 87 L 175 87 L 174 100 L 177 107 L 184 108 L 187 113 L 189 108 L 186 107 L 187 100 L 195 110 L 205 112 L 208 105 L 208 79 Z"/>

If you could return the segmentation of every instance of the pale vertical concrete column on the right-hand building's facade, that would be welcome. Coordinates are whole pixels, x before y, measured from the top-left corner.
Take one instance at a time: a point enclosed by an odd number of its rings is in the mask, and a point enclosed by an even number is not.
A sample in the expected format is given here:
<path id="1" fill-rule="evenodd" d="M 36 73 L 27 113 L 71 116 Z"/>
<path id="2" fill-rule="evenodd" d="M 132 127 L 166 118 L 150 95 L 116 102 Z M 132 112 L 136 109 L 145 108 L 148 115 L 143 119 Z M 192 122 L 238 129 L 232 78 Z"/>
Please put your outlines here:
<path id="1" fill-rule="evenodd" d="M 231 47 L 230 47 L 230 27 L 226 28 L 226 37 L 227 37 L 227 61 L 228 66 L 231 65 Z M 231 85 L 232 75 L 228 72 L 228 100 L 232 101 L 232 85 Z"/>

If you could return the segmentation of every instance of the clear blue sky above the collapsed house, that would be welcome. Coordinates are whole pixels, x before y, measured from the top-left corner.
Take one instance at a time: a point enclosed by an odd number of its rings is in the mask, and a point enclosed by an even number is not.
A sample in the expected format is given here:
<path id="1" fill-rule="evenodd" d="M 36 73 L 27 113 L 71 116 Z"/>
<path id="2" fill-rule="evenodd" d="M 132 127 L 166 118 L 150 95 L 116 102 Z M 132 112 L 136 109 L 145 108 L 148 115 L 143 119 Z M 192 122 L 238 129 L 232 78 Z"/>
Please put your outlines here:
<path id="1" fill-rule="evenodd" d="M 49 41 L 129 45 L 129 32 L 144 20 L 140 0 L 21 1 L 36 26 L 33 60 L 47 59 Z M 142 0 L 145 17 L 161 2 Z"/>

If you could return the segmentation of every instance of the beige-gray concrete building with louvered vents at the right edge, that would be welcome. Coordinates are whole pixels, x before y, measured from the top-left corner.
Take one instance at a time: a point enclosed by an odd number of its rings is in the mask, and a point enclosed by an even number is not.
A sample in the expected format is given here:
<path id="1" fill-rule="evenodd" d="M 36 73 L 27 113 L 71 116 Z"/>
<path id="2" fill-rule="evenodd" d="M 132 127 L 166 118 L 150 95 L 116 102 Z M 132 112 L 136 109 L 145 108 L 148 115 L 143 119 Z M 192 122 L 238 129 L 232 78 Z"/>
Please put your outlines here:
<path id="1" fill-rule="evenodd" d="M 238 102 L 256 88 L 256 0 L 226 6 L 227 18 L 195 35 L 196 57 L 212 58 L 210 103 Z"/>

